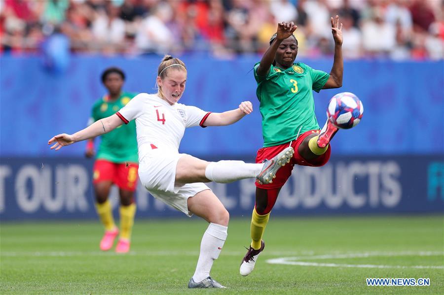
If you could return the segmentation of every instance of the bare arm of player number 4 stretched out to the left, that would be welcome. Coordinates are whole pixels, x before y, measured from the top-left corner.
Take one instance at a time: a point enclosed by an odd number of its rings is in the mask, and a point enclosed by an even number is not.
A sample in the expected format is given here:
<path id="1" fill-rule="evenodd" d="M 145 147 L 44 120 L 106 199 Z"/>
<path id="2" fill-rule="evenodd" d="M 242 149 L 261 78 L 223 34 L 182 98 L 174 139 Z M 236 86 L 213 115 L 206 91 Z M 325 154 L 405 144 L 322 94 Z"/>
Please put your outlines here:
<path id="1" fill-rule="evenodd" d="M 82 141 L 108 133 L 122 124 L 122 120 L 120 120 L 120 118 L 114 114 L 110 117 L 96 121 L 85 129 L 77 131 L 74 134 L 62 133 L 56 135 L 49 139 L 48 144 L 55 143 L 53 146 L 51 146 L 51 150 L 55 149 L 57 151 L 62 146 L 70 145 L 77 141 Z"/>

